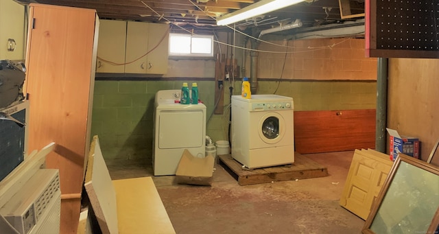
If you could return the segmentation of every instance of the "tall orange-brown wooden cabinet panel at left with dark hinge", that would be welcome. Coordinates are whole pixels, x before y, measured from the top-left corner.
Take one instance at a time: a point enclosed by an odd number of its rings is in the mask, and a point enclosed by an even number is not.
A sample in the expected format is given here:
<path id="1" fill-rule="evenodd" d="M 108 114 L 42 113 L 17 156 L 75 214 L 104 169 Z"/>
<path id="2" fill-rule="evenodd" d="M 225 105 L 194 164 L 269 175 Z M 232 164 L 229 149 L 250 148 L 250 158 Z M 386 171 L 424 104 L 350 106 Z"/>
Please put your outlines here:
<path id="1" fill-rule="evenodd" d="M 31 4 L 26 54 L 27 152 L 56 142 L 47 168 L 60 169 L 62 194 L 81 194 L 95 69 L 95 10 Z M 33 23 L 32 23 L 33 22 Z M 63 199 L 61 233 L 78 229 L 80 199 Z"/>

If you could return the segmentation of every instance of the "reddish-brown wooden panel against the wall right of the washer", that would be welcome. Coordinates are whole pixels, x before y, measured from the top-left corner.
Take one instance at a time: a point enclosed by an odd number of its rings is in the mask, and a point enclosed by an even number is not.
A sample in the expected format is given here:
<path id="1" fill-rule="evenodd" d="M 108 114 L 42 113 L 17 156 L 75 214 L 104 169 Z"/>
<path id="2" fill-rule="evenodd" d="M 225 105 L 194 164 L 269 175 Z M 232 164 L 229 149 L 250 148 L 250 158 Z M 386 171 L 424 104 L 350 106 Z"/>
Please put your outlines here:
<path id="1" fill-rule="evenodd" d="M 375 109 L 294 112 L 300 154 L 375 148 Z"/>

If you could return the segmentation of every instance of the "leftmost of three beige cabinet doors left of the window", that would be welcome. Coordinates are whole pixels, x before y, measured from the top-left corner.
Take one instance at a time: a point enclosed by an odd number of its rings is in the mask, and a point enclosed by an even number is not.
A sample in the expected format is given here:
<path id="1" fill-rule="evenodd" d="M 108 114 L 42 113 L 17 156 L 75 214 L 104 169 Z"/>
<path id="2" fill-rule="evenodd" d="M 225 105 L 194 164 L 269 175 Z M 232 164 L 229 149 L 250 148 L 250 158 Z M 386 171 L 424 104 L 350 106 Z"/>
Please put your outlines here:
<path id="1" fill-rule="evenodd" d="M 123 73 L 125 70 L 126 21 L 99 21 L 97 43 L 98 73 Z"/>

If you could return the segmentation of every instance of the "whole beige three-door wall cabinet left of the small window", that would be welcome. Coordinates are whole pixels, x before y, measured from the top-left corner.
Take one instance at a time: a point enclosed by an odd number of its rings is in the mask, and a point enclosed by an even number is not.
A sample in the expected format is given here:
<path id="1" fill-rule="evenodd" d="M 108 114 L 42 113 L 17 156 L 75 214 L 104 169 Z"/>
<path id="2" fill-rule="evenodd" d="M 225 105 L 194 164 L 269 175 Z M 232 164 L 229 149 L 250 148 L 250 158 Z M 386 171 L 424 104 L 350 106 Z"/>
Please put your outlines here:
<path id="1" fill-rule="evenodd" d="M 165 74 L 168 40 L 169 25 L 166 24 L 102 21 L 96 71 Z"/>

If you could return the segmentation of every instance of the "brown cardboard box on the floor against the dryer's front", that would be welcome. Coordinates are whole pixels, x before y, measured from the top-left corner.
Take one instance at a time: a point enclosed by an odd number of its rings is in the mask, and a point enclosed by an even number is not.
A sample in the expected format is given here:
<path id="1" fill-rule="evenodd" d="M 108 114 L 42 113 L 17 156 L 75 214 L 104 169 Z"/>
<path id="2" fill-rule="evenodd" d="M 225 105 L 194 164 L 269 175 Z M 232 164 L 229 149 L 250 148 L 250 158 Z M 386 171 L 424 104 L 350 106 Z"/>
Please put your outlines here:
<path id="1" fill-rule="evenodd" d="M 183 151 L 176 172 L 177 183 L 211 186 L 214 163 L 215 159 L 211 155 L 197 158 L 189 150 Z"/>

